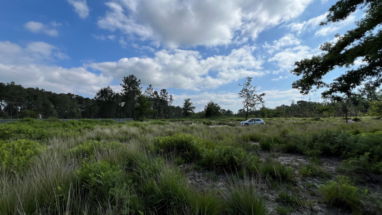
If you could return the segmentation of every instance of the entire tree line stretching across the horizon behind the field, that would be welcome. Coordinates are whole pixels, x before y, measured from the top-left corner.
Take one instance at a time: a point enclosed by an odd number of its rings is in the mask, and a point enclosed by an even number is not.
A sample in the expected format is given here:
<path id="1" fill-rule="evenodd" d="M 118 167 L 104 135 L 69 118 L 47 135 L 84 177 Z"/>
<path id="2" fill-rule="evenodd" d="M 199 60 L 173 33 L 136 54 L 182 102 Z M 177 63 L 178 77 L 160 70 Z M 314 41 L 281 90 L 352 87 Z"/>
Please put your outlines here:
<path id="1" fill-rule="evenodd" d="M 84 98 L 71 93 L 52 93 L 39 88 L 24 88 L 21 85 L 0 83 L 0 117 L 13 119 L 32 117 L 57 117 L 60 119 L 99 119 L 99 118 L 134 118 L 134 119 L 171 119 L 171 118 L 216 118 L 216 117 L 343 117 L 343 101 L 312 102 L 297 101 L 290 105 L 266 108 L 257 95 L 256 86 L 250 85 L 251 78 L 244 82 L 239 97 L 243 98 L 243 109 L 234 113 L 225 110 L 214 101 L 209 101 L 203 111 L 194 112 L 190 98 L 184 99 L 183 107 L 173 106 L 173 96 L 166 89 L 159 92 L 149 85 L 142 91 L 141 80 L 134 75 L 124 77 L 122 92 L 116 93 L 110 86 L 101 88 L 94 98 Z M 349 117 L 382 116 L 382 90 L 364 86 L 345 98 Z M 250 104 L 251 103 L 251 104 Z M 261 106 L 259 109 L 256 107 Z"/>

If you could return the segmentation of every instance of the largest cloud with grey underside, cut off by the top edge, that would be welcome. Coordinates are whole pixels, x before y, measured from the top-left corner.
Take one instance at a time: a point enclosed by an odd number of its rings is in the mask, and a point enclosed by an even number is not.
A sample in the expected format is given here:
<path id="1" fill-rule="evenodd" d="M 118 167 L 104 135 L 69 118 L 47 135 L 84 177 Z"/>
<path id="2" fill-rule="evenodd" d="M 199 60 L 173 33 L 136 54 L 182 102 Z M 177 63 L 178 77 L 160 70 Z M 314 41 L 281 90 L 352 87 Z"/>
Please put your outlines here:
<path id="1" fill-rule="evenodd" d="M 311 1 L 113 0 L 98 26 L 171 48 L 240 44 L 297 17 Z"/>

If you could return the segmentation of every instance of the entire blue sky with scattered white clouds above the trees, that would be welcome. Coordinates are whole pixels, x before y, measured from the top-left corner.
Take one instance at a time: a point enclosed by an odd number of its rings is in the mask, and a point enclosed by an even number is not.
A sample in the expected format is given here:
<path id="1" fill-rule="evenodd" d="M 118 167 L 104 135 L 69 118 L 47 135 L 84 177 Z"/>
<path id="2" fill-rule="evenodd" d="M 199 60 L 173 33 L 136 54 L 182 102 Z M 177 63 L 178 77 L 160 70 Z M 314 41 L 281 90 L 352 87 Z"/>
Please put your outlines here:
<path id="1" fill-rule="evenodd" d="M 289 73 L 354 27 L 361 13 L 319 26 L 330 0 L 14 0 L 0 3 L 0 82 L 93 97 L 124 76 L 143 90 L 166 88 L 174 104 L 191 98 L 236 112 L 245 77 L 265 106 L 302 97 Z M 356 62 L 357 65 L 357 62 Z M 341 73 L 325 76 L 330 82 Z M 318 100 L 317 100 L 318 99 Z"/>

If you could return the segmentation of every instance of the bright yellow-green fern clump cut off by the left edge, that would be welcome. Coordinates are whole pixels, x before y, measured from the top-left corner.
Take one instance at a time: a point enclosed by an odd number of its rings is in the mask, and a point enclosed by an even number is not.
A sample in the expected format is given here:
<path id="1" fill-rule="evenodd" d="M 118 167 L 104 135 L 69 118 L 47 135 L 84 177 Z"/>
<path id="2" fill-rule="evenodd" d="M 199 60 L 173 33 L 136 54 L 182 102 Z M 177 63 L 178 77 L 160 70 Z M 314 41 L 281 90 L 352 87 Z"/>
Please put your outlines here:
<path id="1" fill-rule="evenodd" d="M 46 147 L 32 140 L 0 140 L 0 169 L 22 172 Z"/>

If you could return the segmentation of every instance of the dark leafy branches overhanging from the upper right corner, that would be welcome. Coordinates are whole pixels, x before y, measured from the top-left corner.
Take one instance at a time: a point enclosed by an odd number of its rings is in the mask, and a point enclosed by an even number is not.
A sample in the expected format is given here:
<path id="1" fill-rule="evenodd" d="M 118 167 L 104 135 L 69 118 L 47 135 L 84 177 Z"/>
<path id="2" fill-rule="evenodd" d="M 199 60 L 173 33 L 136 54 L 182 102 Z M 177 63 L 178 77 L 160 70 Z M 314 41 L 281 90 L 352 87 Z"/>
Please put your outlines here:
<path id="1" fill-rule="evenodd" d="M 292 87 L 299 89 L 301 94 L 308 94 L 319 88 L 328 88 L 322 93 L 323 98 L 340 100 L 340 94 L 351 95 L 354 88 L 360 85 L 378 87 L 382 83 L 380 65 L 382 29 L 380 13 L 382 6 L 379 1 L 339 0 L 330 7 L 327 21 L 320 25 L 332 24 L 345 20 L 358 8 L 363 8 L 364 17 L 356 22 L 356 28 L 348 30 L 342 36 L 336 34 L 336 42 L 325 42 L 320 46 L 321 55 L 311 59 L 295 62 L 291 73 L 302 78 L 293 82 Z M 356 59 L 363 59 L 359 67 L 353 68 Z M 343 67 L 340 77 L 333 83 L 325 83 L 325 74 L 334 68 Z"/>

